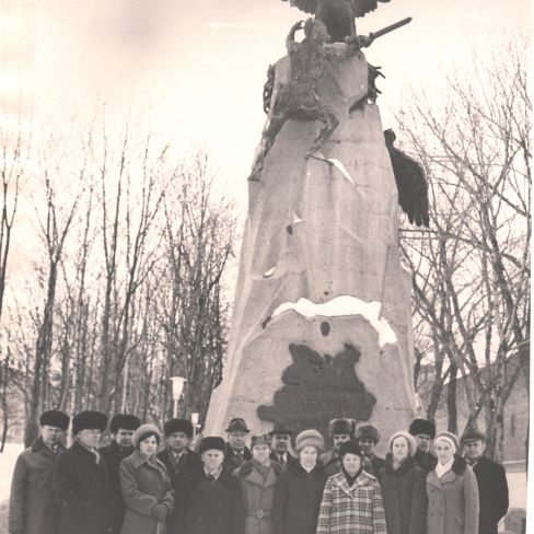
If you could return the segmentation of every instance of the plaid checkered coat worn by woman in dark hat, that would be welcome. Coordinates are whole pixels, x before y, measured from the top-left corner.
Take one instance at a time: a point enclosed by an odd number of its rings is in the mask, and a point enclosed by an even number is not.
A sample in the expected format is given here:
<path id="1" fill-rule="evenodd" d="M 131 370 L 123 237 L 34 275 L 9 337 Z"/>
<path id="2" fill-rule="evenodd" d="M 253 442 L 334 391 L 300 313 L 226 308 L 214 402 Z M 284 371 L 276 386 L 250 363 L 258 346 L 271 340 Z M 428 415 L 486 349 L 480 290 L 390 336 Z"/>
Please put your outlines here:
<path id="1" fill-rule="evenodd" d="M 344 473 L 326 481 L 316 534 L 387 534 L 382 492 L 376 478 L 360 472 L 351 487 Z"/>

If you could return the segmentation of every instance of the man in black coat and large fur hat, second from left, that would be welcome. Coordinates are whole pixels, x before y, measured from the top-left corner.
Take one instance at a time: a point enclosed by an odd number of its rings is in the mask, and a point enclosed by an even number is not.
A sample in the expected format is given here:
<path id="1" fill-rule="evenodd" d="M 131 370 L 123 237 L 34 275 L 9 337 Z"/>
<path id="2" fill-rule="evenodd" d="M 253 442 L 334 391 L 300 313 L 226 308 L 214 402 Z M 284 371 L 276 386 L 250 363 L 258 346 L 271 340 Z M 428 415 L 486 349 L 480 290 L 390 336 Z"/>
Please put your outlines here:
<path id="1" fill-rule="evenodd" d="M 109 478 L 96 449 L 106 426 L 100 411 L 81 411 L 72 419 L 76 441 L 57 457 L 53 474 L 59 534 L 113 533 Z"/>

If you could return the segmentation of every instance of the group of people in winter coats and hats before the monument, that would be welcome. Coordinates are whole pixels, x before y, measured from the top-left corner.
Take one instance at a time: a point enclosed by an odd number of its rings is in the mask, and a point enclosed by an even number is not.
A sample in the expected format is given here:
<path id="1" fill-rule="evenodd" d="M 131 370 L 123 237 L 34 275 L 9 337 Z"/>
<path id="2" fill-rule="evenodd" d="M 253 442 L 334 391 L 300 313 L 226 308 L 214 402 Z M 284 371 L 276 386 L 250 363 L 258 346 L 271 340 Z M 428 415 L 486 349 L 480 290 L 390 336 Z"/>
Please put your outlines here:
<path id="1" fill-rule="evenodd" d="M 475 429 L 458 441 L 416 419 L 382 458 L 379 430 L 345 418 L 330 421 L 326 452 L 317 430 L 293 436 L 280 422 L 248 440 L 239 417 L 228 440 L 204 437 L 194 451 L 189 420 L 161 432 L 127 414 L 98 448 L 107 422 L 98 411 L 40 416 L 14 468 L 10 534 L 496 534 L 508 510 L 504 469 Z"/>

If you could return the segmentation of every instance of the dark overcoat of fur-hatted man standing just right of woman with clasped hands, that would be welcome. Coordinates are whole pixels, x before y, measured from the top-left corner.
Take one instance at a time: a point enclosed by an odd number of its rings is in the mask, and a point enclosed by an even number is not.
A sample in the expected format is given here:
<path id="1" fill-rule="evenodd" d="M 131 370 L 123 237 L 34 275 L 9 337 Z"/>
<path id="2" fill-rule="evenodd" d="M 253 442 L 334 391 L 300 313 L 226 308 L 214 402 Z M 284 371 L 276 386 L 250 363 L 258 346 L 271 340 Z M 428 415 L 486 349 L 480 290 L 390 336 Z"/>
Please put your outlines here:
<path id="1" fill-rule="evenodd" d="M 197 453 L 187 450 L 179 458 L 178 465 L 175 465 L 167 449 L 158 454 L 158 460 L 165 466 L 171 478 L 171 485 L 174 488 L 174 511 L 167 518 L 167 531 L 171 534 L 183 534 L 185 532 L 187 494 L 193 483 L 202 473 L 202 461 Z"/>

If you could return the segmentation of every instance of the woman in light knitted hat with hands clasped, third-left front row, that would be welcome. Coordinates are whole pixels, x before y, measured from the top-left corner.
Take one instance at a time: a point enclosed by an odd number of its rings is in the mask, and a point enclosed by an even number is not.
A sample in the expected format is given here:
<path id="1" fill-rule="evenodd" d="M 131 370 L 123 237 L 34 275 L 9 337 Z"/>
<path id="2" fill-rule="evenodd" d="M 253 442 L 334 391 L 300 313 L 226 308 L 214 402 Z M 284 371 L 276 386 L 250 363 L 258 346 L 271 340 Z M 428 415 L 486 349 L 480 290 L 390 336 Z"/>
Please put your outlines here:
<path id="1" fill-rule="evenodd" d="M 161 433 L 142 425 L 134 434 L 136 450 L 120 463 L 120 488 L 126 503 L 121 534 L 164 534 L 174 495 L 163 463 L 155 457 Z"/>

